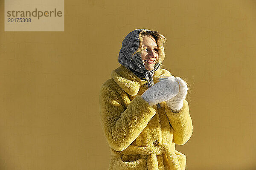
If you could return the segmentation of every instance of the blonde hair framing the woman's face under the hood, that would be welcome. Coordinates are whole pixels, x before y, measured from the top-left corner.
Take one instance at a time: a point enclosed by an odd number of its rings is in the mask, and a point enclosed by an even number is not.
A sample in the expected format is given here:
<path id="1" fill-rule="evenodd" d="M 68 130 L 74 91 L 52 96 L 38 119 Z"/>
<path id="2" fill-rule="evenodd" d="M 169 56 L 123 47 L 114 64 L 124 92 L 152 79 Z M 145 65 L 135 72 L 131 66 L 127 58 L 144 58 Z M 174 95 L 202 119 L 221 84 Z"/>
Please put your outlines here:
<path id="1" fill-rule="evenodd" d="M 159 58 L 157 59 L 157 61 L 155 63 L 159 62 L 160 64 L 162 64 L 164 57 L 165 57 L 163 45 L 166 42 L 166 38 L 162 34 L 160 34 L 158 31 L 149 31 L 149 30 L 141 31 L 139 34 L 139 48 L 131 56 L 133 57 L 134 54 L 136 54 L 136 53 L 142 54 L 142 52 L 143 52 L 143 37 L 150 36 L 150 35 L 156 40 L 157 47 L 158 47 L 157 51 L 158 51 Z"/>

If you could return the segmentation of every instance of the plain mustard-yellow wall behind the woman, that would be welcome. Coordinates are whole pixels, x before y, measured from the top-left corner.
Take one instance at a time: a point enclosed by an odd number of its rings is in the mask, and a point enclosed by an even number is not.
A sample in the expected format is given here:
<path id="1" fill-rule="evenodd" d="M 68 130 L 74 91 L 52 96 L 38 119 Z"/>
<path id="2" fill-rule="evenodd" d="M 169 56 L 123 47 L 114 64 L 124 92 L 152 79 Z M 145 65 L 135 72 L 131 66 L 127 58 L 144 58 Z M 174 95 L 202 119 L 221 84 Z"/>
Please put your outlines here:
<path id="1" fill-rule="evenodd" d="M 256 1 L 65 0 L 64 32 L 5 32 L 0 0 L 0 169 L 106 170 L 99 88 L 134 29 L 167 39 L 189 84 L 187 170 L 256 168 Z"/>

